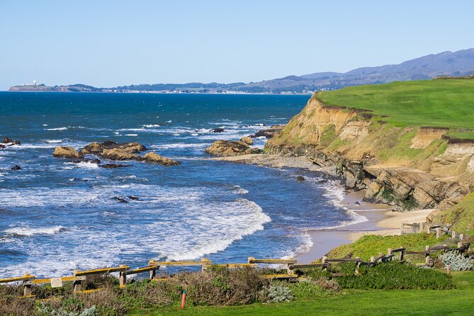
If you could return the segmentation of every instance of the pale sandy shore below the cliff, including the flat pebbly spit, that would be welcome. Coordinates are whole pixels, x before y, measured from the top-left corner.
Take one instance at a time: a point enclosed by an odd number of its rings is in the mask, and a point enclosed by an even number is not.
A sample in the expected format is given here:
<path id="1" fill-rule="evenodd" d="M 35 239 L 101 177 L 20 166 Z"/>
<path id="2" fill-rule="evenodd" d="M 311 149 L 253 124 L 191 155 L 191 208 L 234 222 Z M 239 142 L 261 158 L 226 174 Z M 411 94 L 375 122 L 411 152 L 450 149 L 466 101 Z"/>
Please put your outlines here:
<path id="1" fill-rule="evenodd" d="M 305 157 L 283 157 L 278 155 L 245 154 L 236 157 L 217 157 L 215 161 L 255 164 L 261 167 L 299 168 L 325 174 L 325 169 L 312 164 Z M 340 227 L 322 230 L 306 230 L 312 245 L 305 251 L 296 254 L 299 263 L 309 264 L 325 256 L 329 250 L 355 242 L 363 235 L 400 235 L 402 222 L 422 222 L 433 210 L 414 210 L 400 212 L 388 204 L 363 202 L 365 191 L 348 191 L 342 201 L 342 207 L 366 218 L 363 222 L 354 222 Z"/>

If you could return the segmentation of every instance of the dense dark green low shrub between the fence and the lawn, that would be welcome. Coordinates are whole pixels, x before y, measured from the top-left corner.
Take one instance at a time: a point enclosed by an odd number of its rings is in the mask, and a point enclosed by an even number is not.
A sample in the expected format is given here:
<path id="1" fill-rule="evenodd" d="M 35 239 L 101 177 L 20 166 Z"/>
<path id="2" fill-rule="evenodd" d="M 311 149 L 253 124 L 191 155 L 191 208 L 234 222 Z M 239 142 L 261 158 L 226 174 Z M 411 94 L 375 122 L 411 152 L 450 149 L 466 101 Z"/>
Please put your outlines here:
<path id="1" fill-rule="evenodd" d="M 343 276 L 338 279 L 342 288 L 379 289 L 448 289 L 451 276 L 433 269 L 422 269 L 395 261 L 371 268 L 361 266 L 360 276 Z"/>

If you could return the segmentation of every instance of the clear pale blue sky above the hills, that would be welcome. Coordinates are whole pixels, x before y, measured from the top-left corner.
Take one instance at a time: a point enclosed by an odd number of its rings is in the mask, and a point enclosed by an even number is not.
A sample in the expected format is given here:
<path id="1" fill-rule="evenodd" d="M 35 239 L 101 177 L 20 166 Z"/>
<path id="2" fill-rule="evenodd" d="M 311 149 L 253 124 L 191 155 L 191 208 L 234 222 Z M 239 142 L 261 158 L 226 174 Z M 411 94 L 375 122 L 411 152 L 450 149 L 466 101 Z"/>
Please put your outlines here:
<path id="1" fill-rule="evenodd" d="M 474 1 L 0 0 L 0 90 L 260 81 L 474 47 Z"/>

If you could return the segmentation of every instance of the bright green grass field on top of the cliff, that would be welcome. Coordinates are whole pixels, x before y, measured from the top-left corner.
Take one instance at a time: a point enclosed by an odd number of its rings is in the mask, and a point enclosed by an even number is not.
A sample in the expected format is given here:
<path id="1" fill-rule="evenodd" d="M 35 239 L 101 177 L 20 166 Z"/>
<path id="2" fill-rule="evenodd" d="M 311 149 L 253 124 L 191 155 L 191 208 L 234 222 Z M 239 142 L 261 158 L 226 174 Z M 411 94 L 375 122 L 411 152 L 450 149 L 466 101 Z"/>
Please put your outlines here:
<path id="1" fill-rule="evenodd" d="M 372 110 L 402 125 L 474 130 L 474 80 L 422 80 L 351 86 L 320 91 L 317 98 L 332 106 Z M 474 137 L 471 132 L 460 137 Z"/>

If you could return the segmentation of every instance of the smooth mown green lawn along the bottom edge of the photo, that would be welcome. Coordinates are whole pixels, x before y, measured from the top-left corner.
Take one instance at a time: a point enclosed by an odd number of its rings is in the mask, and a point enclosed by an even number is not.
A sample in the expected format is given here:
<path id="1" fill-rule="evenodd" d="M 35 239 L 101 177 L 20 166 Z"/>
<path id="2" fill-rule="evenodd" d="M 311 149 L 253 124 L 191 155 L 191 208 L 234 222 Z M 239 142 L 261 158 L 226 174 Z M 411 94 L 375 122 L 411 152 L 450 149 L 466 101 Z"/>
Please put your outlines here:
<path id="1" fill-rule="evenodd" d="M 233 307 L 179 305 L 135 310 L 129 315 L 473 315 L 474 273 L 453 273 L 453 290 L 343 290 L 338 295 L 302 298 L 289 303 Z"/>

